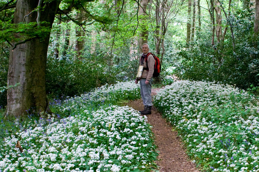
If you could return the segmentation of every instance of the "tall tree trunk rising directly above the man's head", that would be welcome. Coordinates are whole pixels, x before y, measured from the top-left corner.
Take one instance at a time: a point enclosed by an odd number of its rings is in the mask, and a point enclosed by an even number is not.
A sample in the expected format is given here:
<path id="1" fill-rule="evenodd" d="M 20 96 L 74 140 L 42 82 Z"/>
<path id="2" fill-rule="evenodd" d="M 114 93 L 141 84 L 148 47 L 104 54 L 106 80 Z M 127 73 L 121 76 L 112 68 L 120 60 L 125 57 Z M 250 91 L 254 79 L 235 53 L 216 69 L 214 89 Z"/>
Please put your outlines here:
<path id="1" fill-rule="evenodd" d="M 148 5 L 149 0 L 141 0 L 140 2 L 140 7 L 139 7 L 139 15 L 141 16 L 140 20 L 140 27 L 141 27 L 141 32 L 140 32 L 140 40 L 139 40 L 139 52 L 142 54 L 142 49 L 141 46 L 144 43 L 147 43 L 148 40 L 148 30 L 147 30 L 147 22 L 146 22 L 146 6 Z"/>

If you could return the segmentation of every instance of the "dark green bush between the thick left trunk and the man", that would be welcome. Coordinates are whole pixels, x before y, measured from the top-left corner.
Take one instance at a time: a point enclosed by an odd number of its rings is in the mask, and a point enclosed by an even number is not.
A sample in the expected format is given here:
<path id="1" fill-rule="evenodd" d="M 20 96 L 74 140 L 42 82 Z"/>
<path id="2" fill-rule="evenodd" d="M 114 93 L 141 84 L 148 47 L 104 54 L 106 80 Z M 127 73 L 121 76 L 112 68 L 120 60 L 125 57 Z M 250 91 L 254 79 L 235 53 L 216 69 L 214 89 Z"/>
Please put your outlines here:
<path id="1" fill-rule="evenodd" d="M 104 67 L 92 60 L 56 59 L 47 60 L 46 91 L 49 97 L 80 95 L 92 88 L 113 82 Z"/>

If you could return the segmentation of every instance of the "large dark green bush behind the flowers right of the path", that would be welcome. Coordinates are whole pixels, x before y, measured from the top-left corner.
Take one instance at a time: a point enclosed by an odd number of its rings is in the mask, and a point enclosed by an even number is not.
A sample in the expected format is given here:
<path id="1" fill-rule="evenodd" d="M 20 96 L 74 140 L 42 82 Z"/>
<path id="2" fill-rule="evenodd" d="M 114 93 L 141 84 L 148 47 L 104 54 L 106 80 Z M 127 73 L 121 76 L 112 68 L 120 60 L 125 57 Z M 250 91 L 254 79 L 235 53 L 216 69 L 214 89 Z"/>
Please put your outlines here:
<path id="1" fill-rule="evenodd" d="M 242 15 L 241 15 L 242 14 Z M 182 62 L 176 69 L 176 75 L 183 79 L 222 81 L 239 88 L 247 89 L 251 84 L 259 86 L 259 39 L 254 35 L 253 19 L 249 13 L 237 11 L 232 19 L 235 49 L 230 29 L 224 42 L 211 45 L 210 30 L 197 36 L 193 48 L 184 49 L 178 44 Z M 215 35 L 216 39 L 216 35 Z"/>

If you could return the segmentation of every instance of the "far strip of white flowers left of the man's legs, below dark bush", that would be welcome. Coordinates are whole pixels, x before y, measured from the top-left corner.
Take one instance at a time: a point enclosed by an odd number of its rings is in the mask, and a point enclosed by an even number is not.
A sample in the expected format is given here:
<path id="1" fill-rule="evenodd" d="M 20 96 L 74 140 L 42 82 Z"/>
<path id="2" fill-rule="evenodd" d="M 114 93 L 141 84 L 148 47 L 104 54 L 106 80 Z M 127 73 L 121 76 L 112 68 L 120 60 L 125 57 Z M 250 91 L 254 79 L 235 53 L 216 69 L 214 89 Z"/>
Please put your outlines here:
<path id="1" fill-rule="evenodd" d="M 66 99 L 62 103 L 54 102 L 54 107 L 59 109 L 60 112 L 74 112 L 101 106 L 105 103 L 113 104 L 120 99 L 138 99 L 139 97 L 140 87 L 133 81 L 118 82 L 112 85 L 103 85 L 81 96 Z"/>

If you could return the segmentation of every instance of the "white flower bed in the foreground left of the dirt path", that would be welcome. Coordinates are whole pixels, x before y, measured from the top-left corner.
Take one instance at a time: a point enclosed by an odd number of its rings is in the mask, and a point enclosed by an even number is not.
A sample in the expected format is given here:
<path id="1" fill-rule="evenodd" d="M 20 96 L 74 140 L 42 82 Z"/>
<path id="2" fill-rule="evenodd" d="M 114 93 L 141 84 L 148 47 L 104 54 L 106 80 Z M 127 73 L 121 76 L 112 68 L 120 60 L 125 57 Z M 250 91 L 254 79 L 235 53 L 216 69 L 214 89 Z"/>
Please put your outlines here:
<path id="1" fill-rule="evenodd" d="M 157 153 L 146 117 L 127 106 L 71 116 L 0 145 L 0 171 L 150 171 Z"/>

